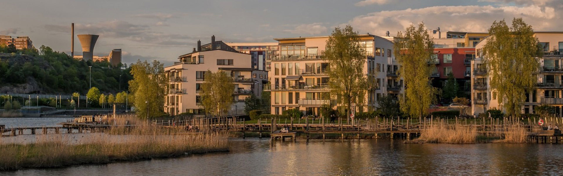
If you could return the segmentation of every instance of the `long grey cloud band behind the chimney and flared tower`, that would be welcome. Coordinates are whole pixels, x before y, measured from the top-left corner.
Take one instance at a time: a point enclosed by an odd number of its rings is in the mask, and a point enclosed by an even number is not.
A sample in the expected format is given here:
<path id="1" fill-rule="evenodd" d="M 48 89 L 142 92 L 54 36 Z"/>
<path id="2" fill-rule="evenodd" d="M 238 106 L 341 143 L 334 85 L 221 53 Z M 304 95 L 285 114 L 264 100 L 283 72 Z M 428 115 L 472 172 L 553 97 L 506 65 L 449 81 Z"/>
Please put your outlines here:
<path id="1" fill-rule="evenodd" d="M 167 24 L 162 23 L 160 25 Z M 193 37 L 190 36 L 155 32 L 148 25 L 131 24 L 127 21 L 119 20 L 101 21 L 96 24 L 75 24 L 74 27 L 77 31 L 81 31 L 81 33 L 100 35 L 100 39 L 122 38 L 139 43 L 139 45 L 158 44 L 151 45 L 157 47 L 187 46 L 193 40 Z M 45 25 L 45 28 L 52 32 L 67 34 L 70 32 L 67 26 L 62 25 Z"/>

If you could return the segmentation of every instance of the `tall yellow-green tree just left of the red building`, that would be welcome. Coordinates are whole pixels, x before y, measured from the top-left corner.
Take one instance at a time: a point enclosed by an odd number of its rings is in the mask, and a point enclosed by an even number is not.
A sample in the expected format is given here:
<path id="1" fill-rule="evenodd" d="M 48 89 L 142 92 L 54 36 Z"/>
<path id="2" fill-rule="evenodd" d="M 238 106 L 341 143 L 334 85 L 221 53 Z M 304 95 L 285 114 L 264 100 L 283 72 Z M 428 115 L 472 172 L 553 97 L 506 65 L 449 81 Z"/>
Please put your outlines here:
<path id="1" fill-rule="evenodd" d="M 394 53 L 401 65 L 399 76 L 407 85 L 405 97 L 400 99 L 401 111 L 422 118 L 427 115 L 427 109 L 435 101 L 437 93 L 437 89 L 430 84 L 434 65 L 428 64 L 434 54 L 434 41 L 424 23 L 419 24 L 418 28 L 410 25 L 404 33 L 397 33 Z"/>

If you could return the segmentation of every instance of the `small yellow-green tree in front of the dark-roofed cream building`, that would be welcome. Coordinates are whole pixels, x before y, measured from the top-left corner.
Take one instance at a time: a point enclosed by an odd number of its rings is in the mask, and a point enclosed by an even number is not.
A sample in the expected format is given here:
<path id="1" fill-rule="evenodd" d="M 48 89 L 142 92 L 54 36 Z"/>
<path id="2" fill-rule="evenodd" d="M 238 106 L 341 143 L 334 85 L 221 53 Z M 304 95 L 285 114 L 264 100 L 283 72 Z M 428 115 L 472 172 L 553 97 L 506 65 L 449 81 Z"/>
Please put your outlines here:
<path id="1" fill-rule="evenodd" d="M 233 91 L 235 85 L 233 78 L 224 72 L 205 72 L 205 82 L 202 85 L 202 106 L 205 112 L 221 117 L 230 110 L 233 104 Z"/>

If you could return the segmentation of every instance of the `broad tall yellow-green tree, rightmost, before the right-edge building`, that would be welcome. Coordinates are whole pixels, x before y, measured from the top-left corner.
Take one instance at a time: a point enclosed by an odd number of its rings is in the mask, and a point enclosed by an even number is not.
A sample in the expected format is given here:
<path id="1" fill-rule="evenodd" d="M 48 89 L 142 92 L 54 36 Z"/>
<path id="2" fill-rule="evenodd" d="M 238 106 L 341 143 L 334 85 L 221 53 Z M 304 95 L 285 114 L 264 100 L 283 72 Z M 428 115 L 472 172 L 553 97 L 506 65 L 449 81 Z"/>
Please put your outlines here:
<path id="1" fill-rule="evenodd" d="M 522 18 L 495 21 L 489 28 L 488 41 L 482 48 L 483 63 L 489 69 L 491 89 L 497 93 L 508 116 L 519 117 L 526 91 L 533 90 L 537 81 L 540 48 L 534 30 Z"/>

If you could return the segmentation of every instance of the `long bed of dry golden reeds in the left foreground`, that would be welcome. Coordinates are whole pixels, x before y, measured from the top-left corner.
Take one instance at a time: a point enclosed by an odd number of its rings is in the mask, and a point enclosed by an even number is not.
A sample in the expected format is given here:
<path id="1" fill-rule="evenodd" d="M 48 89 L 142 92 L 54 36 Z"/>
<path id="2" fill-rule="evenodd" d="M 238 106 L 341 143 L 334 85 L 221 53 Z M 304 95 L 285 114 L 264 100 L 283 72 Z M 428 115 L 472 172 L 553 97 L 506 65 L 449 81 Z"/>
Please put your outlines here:
<path id="1" fill-rule="evenodd" d="M 37 135 L 32 143 L 0 138 L 0 170 L 150 160 L 193 153 L 228 151 L 227 134 L 174 134 L 182 129 L 150 125 L 117 127 L 103 134 Z"/>

